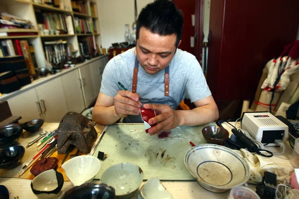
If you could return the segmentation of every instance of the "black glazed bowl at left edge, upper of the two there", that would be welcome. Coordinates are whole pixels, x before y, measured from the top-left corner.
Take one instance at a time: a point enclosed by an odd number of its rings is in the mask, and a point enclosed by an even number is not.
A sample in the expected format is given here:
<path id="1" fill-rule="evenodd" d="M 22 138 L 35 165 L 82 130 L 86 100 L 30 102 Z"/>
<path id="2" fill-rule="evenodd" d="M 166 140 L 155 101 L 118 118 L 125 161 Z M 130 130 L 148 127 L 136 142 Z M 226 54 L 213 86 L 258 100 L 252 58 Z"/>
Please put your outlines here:
<path id="1" fill-rule="evenodd" d="M 23 128 L 19 124 L 0 126 L 0 148 L 16 145 L 22 132 Z"/>

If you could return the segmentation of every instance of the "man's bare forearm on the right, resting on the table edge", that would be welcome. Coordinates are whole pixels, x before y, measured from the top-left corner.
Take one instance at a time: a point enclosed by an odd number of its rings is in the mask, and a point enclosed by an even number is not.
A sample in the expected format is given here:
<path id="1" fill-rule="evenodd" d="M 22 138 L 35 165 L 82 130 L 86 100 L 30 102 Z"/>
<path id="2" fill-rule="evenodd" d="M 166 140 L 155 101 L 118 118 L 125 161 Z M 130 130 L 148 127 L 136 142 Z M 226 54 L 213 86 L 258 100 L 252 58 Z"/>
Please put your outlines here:
<path id="1" fill-rule="evenodd" d="M 176 110 L 180 117 L 180 126 L 197 126 L 216 121 L 219 117 L 217 106 L 203 105 L 192 110 Z"/>

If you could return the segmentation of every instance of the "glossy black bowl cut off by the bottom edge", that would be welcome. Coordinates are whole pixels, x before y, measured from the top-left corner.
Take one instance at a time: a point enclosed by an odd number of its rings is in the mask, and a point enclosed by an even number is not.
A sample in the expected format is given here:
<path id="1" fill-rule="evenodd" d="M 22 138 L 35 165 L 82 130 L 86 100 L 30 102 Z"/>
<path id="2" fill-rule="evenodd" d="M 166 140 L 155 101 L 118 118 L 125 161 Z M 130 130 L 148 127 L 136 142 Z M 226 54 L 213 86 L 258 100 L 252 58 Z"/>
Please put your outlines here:
<path id="1" fill-rule="evenodd" d="M 115 190 L 106 184 L 86 183 L 68 190 L 62 199 L 116 199 Z"/>

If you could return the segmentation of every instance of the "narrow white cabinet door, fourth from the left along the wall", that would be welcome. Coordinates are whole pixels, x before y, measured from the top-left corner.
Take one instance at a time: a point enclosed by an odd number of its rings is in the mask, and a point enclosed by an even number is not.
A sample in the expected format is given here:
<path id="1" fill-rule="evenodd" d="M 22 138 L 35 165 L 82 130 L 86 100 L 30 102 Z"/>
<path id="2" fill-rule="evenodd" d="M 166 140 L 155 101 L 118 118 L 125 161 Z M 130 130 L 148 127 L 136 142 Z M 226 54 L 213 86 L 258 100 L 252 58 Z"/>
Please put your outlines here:
<path id="1" fill-rule="evenodd" d="M 83 92 L 85 107 L 88 107 L 89 104 L 96 98 L 94 94 L 94 88 L 92 85 L 89 64 L 81 66 L 78 70 L 82 82 L 82 92 Z"/>

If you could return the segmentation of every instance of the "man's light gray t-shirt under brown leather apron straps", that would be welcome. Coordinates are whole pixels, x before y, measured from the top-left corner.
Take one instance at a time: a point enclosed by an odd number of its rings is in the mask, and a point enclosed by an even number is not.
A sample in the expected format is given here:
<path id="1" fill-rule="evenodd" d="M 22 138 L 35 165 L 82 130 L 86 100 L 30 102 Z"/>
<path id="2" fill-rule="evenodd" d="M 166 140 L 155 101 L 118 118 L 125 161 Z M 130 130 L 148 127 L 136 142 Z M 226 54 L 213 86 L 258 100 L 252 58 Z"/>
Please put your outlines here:
<path id="1" fill-rule="evenodd" d="M 132 91 L 135 48 L 132 48 L 111 59 L 104 70 L 101 93 L 115 97 L 123 90 L 118 82 Z M 176 50 L 169 64 L 169 97 L 164 97 L 164 70 L 154 75 L 146 73 L 139 65 L 137 94 L 142 103 L 168 104 L 175 109 L 185 98 L 191 102 L 211 95 L 202 69 L 192 54 Z"/>

